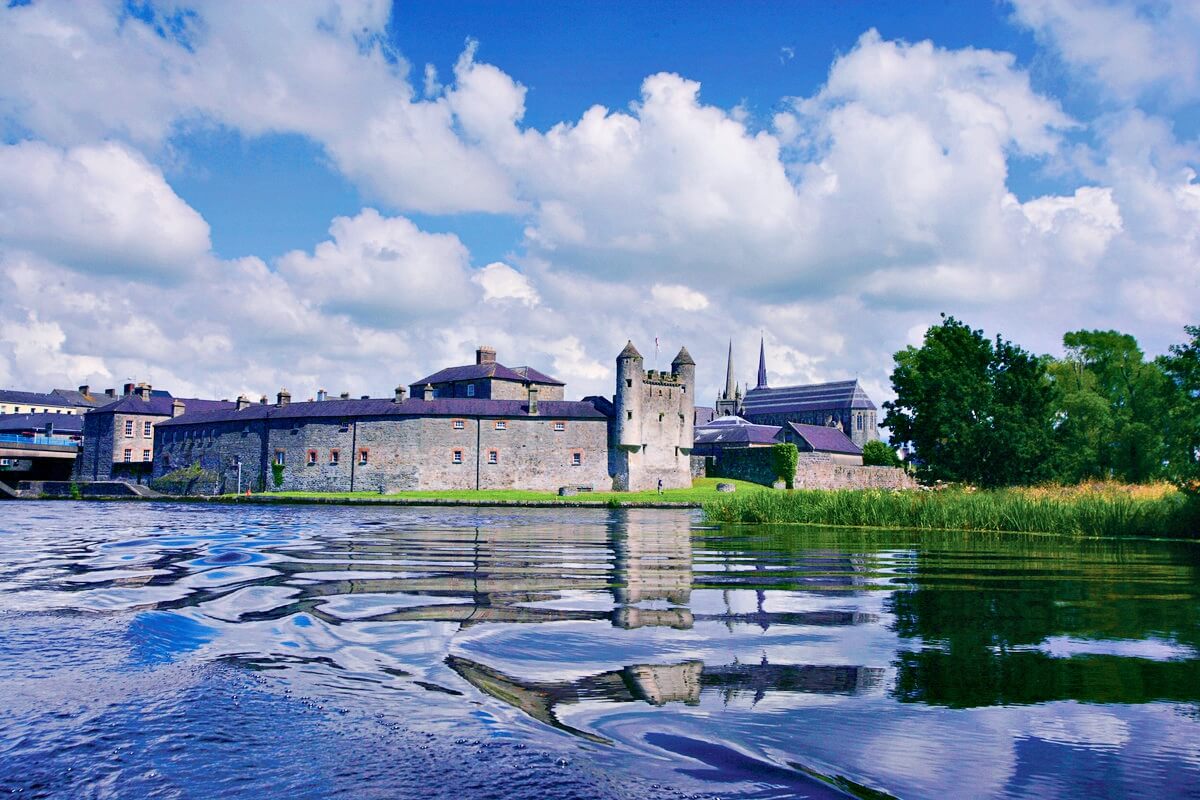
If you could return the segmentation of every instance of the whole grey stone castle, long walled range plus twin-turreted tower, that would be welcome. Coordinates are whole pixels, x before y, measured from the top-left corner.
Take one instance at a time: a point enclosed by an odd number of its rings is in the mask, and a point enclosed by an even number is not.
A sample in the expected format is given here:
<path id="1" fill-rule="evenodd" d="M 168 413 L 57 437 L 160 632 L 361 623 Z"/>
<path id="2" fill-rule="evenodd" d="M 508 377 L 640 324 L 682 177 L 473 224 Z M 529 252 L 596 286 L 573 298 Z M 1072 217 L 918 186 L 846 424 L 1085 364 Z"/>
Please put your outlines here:
<path id="1" fill-rule="evenodd" d="M 632 342 L 617 356 L 613 397 L 563 399 L 565 385 L 505 367 L 480 347 L 391 398 L 173 408 L 154 425 L 154 475 L 208 476 L 193 491 L 644 491 L 691 486 L 696 365 L 647 371 Z M 418 396 L 418 392 L 420 396 Z"/>

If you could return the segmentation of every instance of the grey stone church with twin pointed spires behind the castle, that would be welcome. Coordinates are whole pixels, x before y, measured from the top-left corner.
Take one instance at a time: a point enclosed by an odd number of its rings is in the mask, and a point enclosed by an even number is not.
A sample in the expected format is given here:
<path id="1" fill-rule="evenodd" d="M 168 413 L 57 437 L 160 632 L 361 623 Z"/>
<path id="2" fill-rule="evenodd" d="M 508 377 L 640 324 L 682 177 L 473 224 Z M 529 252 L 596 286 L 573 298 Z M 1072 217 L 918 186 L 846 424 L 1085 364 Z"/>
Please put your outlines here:
<path id="1" fill-rule="evenodd" d="M 766 342 L 758 343 L 757 385 L 742 393 L 733 379 L 733 343 L 725 368 L 725 389 L 716 398 L 716 416 L 740 416 L 754 425 L 786 427 L 790 422 L 834 427 L 862 447 L 880 438 L 877 409 L 858 380 L 803 386 L 767 385 Z"/>

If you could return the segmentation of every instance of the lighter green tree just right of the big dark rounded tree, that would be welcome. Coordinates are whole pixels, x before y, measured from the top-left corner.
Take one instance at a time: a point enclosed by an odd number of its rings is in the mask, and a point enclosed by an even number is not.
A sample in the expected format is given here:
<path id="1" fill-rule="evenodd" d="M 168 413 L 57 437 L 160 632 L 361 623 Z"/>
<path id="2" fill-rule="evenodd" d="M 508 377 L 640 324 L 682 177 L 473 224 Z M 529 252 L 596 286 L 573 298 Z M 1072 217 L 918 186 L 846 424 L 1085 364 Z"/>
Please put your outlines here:
<path id="1" fill-rule="evenodd" d="M 1050 366 L 1055 386 L 1055 477 L 1159 476 L 1171 384 L 1138 341 L 1117 331 L 1072 331 Z"/>

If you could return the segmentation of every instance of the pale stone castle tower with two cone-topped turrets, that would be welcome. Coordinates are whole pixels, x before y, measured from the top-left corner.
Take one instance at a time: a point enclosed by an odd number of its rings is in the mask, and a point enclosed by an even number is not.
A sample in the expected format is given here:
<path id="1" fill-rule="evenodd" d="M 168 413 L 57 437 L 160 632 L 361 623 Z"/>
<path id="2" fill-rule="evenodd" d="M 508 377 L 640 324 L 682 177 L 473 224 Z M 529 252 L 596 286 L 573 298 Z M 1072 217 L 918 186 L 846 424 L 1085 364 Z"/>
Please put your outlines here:
<path id="1" fill-rule="evenodd" d="M 617 356 L 617 392 L 610 434 L 613 488 L 638 492 L 691 486 L 696 362 L 686 348 L 671 372 L 647 372 L 632 342 Z"/>

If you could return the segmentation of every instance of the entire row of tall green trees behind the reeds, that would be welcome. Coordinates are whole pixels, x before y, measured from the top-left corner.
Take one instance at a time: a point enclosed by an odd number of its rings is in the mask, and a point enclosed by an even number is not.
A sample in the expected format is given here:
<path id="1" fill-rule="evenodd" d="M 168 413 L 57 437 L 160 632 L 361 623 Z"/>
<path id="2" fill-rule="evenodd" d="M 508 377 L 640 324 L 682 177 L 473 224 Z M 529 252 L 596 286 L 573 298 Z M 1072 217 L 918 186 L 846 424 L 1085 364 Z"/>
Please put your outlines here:
<path id="1" fill-rule="evenodd" d="M 1118 331 L 1072 331 L 1061 359 L 954 317 L 895 354 L 883 426 L 925 481 L 1200 481 L 1200 325 L 1147 359 Z"/>

